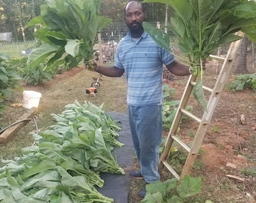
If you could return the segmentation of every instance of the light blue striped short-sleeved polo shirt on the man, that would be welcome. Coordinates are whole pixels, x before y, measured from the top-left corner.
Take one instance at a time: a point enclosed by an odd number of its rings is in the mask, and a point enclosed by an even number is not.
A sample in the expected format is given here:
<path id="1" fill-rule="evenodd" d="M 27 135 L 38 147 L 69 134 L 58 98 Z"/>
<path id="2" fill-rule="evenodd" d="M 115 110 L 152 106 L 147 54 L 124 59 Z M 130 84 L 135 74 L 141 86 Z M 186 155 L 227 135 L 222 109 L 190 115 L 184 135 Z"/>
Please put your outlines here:
<path id="1" fill-rule="evenodd" d="M 127 82 L 127 104 L 131 106 L 163 103 L 163 64 L 174 62 L 167 52 L 146 33 L 134 40 L 130 34 L 120 40 L 114 66 L 123 68 Z"/>

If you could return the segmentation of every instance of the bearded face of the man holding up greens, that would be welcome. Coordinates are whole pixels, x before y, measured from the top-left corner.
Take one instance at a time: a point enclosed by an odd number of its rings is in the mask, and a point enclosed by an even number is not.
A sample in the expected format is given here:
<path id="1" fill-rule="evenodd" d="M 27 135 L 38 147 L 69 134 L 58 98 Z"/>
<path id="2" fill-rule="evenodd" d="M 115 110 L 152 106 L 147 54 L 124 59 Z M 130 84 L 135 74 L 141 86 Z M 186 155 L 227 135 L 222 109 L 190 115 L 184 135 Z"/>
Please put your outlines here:
<path id="1" fill-rule="evenodd" d="M 130 32 L 141 32 L 144 19 L 145 13 L 142 10 L 142 5 L 138 2 L 130 2 L 126 5 L 125 22 Z"/>

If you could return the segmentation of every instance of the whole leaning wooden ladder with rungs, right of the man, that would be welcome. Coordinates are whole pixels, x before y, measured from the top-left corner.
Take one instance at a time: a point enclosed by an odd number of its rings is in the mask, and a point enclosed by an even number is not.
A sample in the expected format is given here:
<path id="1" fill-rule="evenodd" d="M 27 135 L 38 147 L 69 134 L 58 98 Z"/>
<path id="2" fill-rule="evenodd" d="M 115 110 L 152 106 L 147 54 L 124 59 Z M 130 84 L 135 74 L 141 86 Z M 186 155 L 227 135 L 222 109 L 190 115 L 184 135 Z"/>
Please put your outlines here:
<path id="1" fill-rule="evenodd" d="M 238 32 L 236 33 L 236 35 L 243 37 L 244 34 L 242 32 Z M 202 145 L 203 138 L 206 134 L 206 130 L 209 126 L 210 120 L 212 119 L 212 114 L 215 111 L 218 98 L 220 97 L 220 93 L 224 88 L 224 84 L 232 68 L 233 59 L 236 57 L 236 53 L 237 53 L 237 50 L 239 49 L 240 42 L 241 40 L 233 41 L 230 44 L 230 48 L 227 51 L 227 55 L 225 58 L 211 55 L 212 59 L 221 61 L 223 62 L 223 64 L 221 67 L 221 71 L 218 74 L 218 79 L 216 80 L 214 88 L 212 89 L 212 88 L 203 86 L 203 90 L 210 92 L 210 96 L 207 104 L 207 112 L 205 111 L 203 113 L 203 117 L 201 119 L 195 116 L 194 114 L 191 114 L 190 111 L 186 110 L 187 102 L 189 101 L 190 95 L 192 93 L 192 90 L 197 80 L 197 76 L 190 75 L 187 81 L 187 85 L 184 89 L 184 93 L 181 97 L 181 102 L 178 105 L 178 110 L 175 114 L 175 118 L 172 122 L 172 126 L 169 130 L 169 134 L 166 139 L 165 146 L 163 148 L 163 153 L 160 156 L 159 170 L 162 170 L 163 167 L 165 166 L 178 180 L 181 180 L 185 174 L 190 174 L 190 171 L 193 168 L 194 162 L 197 158 L 197 154 L 199 153 L 200 147 Z M 179 129 L 183 115 L 186 115 L 187 117 L 190 117 L 193 120 L 195 120 L 197 123 L 199 123 L 199 127 L 194 136 L 194 141 L 192 142 L 190 147 L 188 147 L 187 144 L 185 144 L 183 141 L 181 141 L 180 138 L 176 136 L 176 133 Z M 167 159 L 170 156 L 170 152 L 172 149 L 171 147 L 173 146 L 174 141 L 177 144 L 179 144 L 181 147 L 183 147 L 184 150 L 187 151 L 187 159 L 186 159 L 186 162 L 184 163 L 181 174 L 178 174 L 175 171 L 175 169 L 172 168 L 172 166 L 169 165 L 169 163 L 167 162 Z"/>

